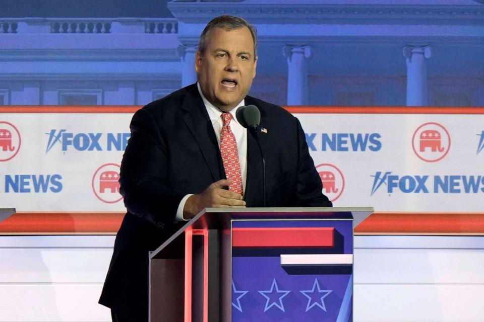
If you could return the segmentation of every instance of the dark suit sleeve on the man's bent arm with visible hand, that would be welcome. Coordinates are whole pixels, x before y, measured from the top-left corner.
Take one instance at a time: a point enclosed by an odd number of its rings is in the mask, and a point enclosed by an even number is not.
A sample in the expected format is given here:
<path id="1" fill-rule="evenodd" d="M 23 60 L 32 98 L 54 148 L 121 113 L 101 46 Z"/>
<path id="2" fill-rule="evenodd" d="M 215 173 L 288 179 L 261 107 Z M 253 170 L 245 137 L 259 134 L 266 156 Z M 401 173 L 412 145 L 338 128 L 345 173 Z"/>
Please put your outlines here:
<path id="1" fill-rule="evenodd" d="M 120 171 L 120 193 L 129 212 L 158 227 L 169 228 L 184 193 L 169 186 L 166 142 L 158 122 L 146 110 L 131 121 Z"/>

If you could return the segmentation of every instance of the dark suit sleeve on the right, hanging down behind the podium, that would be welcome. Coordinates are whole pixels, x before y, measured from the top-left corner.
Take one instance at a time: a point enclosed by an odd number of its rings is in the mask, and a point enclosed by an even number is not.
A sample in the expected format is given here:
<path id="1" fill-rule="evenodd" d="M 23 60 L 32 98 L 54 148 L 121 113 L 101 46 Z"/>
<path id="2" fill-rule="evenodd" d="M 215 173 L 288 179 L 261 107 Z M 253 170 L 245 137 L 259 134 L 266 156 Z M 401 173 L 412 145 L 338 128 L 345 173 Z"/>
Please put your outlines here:
<path id="1" fill-rule="evenodd" d="M 306 135 L 302 130 L 298 119 L 297 144 L 298 144 L 298 167 L 296 183 L 296 200 L 298 207 L 332 207 L 328 197 L 323 195 L 323 184 L 314 166 L 314 160 L 309 154 Z"/>

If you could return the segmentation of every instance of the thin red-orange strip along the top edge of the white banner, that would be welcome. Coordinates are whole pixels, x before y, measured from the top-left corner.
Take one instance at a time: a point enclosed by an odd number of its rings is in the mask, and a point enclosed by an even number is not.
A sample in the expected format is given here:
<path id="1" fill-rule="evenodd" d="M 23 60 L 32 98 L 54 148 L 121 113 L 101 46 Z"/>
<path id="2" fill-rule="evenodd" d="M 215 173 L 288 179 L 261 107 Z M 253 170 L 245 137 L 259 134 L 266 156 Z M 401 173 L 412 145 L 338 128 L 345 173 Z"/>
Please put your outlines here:
<path id="1" fill-rule="evenodd" d="M 3 106 L 0 113 L 135 113 L 142 106 Z M 283 106 L 294 114 L 484 114 L 484 107 Z"/>

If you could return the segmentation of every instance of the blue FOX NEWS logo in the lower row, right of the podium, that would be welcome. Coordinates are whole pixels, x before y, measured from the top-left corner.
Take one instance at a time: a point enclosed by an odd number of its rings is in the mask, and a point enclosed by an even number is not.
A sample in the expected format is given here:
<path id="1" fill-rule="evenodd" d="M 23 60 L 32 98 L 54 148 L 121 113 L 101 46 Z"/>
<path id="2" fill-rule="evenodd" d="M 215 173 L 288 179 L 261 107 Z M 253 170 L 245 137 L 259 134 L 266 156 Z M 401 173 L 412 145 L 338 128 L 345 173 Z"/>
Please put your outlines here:
<path id="1" fill-rule="evenodd" d="M 388 194 L 402 193 L 479 193 L 484 192 L 484 176 L 417 176 L 393 175 L 391 171 L 377 172 L 374 176 L 372 193 L 383 190 Z"/>

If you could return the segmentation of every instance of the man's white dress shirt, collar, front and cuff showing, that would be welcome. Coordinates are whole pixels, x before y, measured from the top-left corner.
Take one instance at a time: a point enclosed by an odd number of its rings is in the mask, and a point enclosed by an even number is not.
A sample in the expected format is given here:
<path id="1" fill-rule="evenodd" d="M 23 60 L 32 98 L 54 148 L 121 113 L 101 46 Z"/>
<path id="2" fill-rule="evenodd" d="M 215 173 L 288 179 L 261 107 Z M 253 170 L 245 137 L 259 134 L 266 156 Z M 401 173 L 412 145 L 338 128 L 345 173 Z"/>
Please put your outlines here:
<path id="1" fill-rule="evenodd" d="M 200 96 L 202 96 L 203 103 L 205 104 L 205 108 L 207 109 L 208 116 L 210 121 L 212 122 L 213 130 L 215 131 L 215 136 L 217 137 L 218 145 L 220 146 L 220 131 L 222 130 L 223 121 L 222 121 L 222 111 L 210 103 L 202 94 L 202 90 L 200 89 L 200 85 L 197 82 L 198 92 Z M 230 120 L 230 129 L 232 130 L 233 135 L 235 136 L 235 141 L 237 142 L 237 151 L 238 151 L 238 161 L 240 163 L 240 173 L 242 175 L 242 189 L 246 191 L 246 182 L 247 182 L 247 129 L 240 125 L 235 117 L 235 112 L 240 106 L 244 106 L 245 102 L 242 100 L 240 103 L 237 104 L 235 108 L 233 108 L 229 113 L 232 114 L 232 119 Z M 183 209 L 185 208 L 185 203 L 187 199 L 192 196 L 193 194 L 188 194 L 183 199 L 181 199 L 180 204 L 178 205 L 178 209 L 176 210 L 176 217 L 175 221 L 180 220 L 188 220 L 183 217 Z"/>

